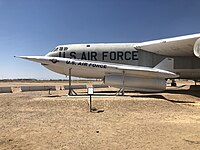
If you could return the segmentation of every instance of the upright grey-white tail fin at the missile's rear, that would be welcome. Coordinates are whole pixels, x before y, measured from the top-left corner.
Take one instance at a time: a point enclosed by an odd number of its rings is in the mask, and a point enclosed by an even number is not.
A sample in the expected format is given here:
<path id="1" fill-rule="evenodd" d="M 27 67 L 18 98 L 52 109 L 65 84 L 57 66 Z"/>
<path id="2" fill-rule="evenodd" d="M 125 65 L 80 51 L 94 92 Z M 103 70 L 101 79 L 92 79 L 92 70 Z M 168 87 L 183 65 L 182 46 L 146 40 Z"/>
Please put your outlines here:
<path id="1" fill-rule="evenodd" d="M 174 71 L 174 59 L 173 58 L 165 58 L 159 64 L 157 64 L 154 68 L 162 69 L 167 71 Z"/>

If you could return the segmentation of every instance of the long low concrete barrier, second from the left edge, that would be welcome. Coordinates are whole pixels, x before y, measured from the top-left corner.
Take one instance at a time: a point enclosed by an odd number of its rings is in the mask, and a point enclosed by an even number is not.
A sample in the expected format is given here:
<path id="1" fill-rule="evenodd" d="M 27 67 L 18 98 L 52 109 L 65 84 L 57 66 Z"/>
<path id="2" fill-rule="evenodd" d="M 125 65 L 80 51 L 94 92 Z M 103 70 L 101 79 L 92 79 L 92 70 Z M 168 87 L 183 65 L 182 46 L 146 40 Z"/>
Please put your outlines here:
<path id="1" fill-rule="evenodd" d="M 27 91 L 55 91 L 56 87 L 55 86 L 21 86 L 21 91 L 22 92 L 27 92 Z"/>

